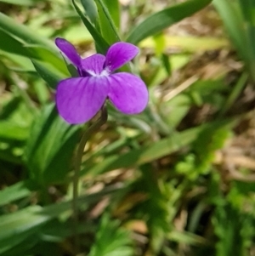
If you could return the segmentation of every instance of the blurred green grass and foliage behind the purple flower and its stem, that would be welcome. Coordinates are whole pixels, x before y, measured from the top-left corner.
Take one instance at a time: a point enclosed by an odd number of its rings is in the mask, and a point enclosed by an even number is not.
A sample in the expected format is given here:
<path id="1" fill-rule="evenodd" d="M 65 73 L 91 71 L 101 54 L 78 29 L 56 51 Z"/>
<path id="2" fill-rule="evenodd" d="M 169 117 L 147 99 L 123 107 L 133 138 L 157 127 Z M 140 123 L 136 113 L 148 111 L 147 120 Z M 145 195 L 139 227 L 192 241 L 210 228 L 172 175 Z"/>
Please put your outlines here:
<path id="1" fill-rule="evenodd" d="M 122 40 L 150 92 L 146 110 L 88 140 L 58 115 L 70 77 L 54 46 L 82 56 Z M 0 255 L 255 255 L 253 0 L 0 1 Z"/>

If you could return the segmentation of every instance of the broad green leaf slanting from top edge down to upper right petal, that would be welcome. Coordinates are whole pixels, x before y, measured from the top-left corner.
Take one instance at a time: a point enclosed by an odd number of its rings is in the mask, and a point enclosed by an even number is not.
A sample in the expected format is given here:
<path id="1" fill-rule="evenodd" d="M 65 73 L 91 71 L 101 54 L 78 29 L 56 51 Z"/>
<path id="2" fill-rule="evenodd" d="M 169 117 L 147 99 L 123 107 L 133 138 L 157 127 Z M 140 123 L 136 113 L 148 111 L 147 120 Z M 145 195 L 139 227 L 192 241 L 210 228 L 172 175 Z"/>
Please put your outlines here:
<path id="1" fill-rule="evenodd" d="M 168 26 L 195 14 L 211 2 L 212 0 L 190 0 L 152 14 L 131 31 L 127 37 L 127 42 L 137 44 L 144 38 L 153 36 Z"/>

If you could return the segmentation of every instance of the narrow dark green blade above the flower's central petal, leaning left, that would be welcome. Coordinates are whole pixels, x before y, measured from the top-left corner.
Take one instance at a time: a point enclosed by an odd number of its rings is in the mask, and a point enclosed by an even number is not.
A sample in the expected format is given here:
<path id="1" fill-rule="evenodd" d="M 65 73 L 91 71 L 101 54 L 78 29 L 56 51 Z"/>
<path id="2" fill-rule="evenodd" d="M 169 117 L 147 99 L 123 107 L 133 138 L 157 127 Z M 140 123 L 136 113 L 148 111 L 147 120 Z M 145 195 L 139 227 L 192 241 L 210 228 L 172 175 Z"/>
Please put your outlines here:
<path id="1" fill-rule="evenodd" d="M 81 17 L 84 26 L 87 27 L 89 33 L 94 38 L 94 41 L 95 41 L 95 44 L 96 44 L 96 46 L 97 46 L 97 48 L 99 50 L 99 53 L 100 54 L 105 54 L 107 49 L 110 47 L 110 45 L 99 34 L 99 32 L 96 31 L 94 26 L 88 21 L 88 19 L 84 16 L 84 14 L 82 14 L 82 11 L 77 6 L 77 3 L 75 2 L 75 0 L 71 0 L 71 2 L 73 3 L 74 8 L 77 10 L 77 14 L 79 14 L 79 16 Z"/>

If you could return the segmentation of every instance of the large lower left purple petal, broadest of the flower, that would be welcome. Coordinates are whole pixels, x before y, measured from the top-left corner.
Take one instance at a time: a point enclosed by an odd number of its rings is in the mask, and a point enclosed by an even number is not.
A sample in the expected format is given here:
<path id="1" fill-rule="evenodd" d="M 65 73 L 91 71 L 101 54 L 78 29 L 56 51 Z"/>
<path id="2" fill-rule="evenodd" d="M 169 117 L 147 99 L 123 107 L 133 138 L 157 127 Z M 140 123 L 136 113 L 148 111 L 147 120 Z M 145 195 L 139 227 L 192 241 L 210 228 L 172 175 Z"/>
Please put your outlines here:
<path id="1" fill-rule="evenodd" d="M 88 122 L 104 104 L 108 88 L 107 77 L 78 77 L 60 81 L 56 93 L 59 115 L 73 124 Z"/>

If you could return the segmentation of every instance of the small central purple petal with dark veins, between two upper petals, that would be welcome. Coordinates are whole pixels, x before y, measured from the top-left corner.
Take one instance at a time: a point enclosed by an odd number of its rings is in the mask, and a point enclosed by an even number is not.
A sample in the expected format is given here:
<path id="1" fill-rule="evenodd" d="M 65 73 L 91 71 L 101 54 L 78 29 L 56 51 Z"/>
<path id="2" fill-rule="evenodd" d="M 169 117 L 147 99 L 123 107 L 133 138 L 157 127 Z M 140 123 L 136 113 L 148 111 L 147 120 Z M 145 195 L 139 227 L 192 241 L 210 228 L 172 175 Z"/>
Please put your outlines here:
<path id="1" fill-rule="evenodd" d="M 82 70 L 92 76 L 99 75 L 104 69 L 104 64 L 105 56 L 102 54 L 94 54 L 82 60 Z"/>

